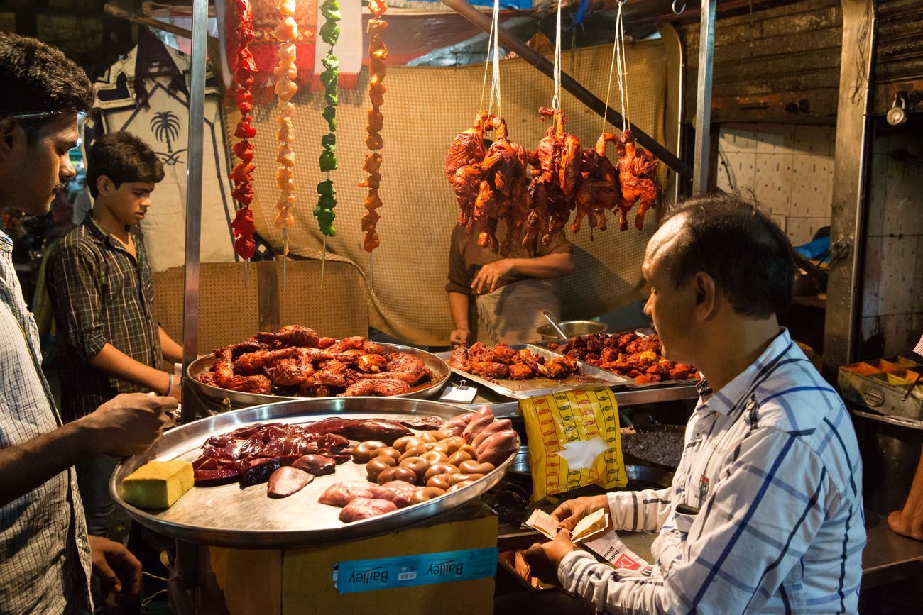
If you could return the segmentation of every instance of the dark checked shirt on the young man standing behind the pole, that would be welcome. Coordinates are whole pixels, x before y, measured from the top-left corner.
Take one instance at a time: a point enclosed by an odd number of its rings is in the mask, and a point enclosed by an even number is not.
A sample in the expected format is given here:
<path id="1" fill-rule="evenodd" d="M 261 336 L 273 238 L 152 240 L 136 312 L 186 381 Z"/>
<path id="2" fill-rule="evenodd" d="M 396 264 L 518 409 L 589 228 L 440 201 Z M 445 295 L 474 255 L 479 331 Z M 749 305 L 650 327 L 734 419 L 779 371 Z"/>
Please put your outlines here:
<path id="1" fill-rule="evenodd" d="M 150 264 L 144 242 L 137 236 L 135 252 L 137 258 L 90 214 L 49 259 L 46 281 L 56 335 L 64 350 L 61 405 L 66 421 L 89 414 L 119 393 L 147 391 L 90 365 L 107 343 L 135 361 L 161 367 Z M 166 384 L 164 374 L 164 389 Z"/>

